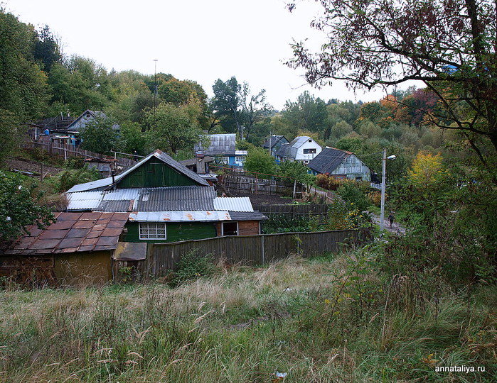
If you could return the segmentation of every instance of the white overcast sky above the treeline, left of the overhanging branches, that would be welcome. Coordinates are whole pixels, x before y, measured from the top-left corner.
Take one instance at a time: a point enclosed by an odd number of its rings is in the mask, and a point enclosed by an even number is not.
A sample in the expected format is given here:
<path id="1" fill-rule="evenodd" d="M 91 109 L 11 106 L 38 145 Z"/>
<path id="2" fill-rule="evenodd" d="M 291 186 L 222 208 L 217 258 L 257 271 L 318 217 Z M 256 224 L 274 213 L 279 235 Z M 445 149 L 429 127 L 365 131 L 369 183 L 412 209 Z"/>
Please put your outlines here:
<path id="1" fill-rule="evenodd" d="M 1 0 L 0 0 L 1 1 Z M 0 3 L 1 4 L 1 3 Z M 353 94 L 344 84 L 313 89 L 302 72 L 283 64 L 292 39 L 319 46 L 309 27 L 319 7 L 301 2 L 289 13 L 284 0 L 4 0 L 7 11 L 34 26 L 48 24 L 65 54 L 90 57 L 108 70 L 171 73 L 200 83 L 209 96 L 216 79 L 231 76 L 282 109 L 306 89 L 322 99 L 373 101 L 378 91 Z"/>

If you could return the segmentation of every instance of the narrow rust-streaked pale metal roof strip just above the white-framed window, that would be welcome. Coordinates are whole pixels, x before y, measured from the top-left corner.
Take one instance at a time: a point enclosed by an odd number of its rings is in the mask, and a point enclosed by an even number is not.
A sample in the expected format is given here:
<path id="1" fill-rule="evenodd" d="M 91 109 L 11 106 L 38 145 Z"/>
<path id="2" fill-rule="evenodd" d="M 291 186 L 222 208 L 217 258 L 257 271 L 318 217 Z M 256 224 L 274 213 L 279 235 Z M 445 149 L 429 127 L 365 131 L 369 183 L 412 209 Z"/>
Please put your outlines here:
<path id="1" fill-rule="evenodd" d="M 231 221 L 228 211 L 139 211 L 129 214 L 137 222 L 210 222 Z"/>

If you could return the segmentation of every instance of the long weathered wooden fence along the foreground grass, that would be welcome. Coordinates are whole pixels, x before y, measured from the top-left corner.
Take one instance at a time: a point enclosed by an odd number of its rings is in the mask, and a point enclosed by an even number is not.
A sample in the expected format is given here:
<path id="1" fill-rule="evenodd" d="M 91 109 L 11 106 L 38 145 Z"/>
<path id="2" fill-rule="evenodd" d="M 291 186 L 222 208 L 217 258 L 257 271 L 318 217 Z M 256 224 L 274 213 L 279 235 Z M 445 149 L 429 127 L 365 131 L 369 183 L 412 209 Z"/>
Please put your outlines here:
<path id="1" fill-rule="evenodd" d="M 114 262 L 114 278 L 119 281 L 122 267 L 132 266 L 138 281 L 164 277 L 174 270 L 181 255 L 198 250 L 200 255 L 211 254 L 215 259 L 224 258 L 231 264 L 264 265 L 292 254 L 304 257 L 337 252 L 341 244 L 360 245 L 370 241 L 368 228 L 313 233 L 282 233 L 263 235 L 238 235 L 187 240 L 174 243 L 154 243 L 147 248 L 142 261 Z"/>

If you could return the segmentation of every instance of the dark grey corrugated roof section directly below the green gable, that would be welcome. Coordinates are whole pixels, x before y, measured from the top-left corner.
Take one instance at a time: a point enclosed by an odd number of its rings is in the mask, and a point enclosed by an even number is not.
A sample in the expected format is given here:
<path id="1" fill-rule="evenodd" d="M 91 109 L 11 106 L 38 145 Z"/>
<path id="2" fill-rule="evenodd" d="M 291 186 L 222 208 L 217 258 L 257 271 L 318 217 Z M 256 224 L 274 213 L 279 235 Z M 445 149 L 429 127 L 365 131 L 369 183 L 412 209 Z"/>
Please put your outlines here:
<path id="1" fill-rule="evenodd" d="M 214 199 L 216 196 L 213 187 L 201 186 L 150 187 L 138 189 L 137 195 L 138 198 L 136 200 L 107 200 L 104 197 L 95 211 L 214 210 Z M 112 198 L 117 197 L 112 196 Z M 131 204 L 132 201 L 133 204 Z"/>

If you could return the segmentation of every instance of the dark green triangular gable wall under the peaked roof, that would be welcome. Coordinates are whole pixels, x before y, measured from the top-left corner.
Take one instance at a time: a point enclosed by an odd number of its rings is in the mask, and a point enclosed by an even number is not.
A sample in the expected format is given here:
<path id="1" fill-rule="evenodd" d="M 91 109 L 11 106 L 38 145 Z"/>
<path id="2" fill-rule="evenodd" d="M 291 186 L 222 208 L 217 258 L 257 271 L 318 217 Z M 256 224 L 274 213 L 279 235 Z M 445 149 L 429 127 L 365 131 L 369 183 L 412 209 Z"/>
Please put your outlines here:
<path id="1" fill-rule="evenodd" d="M 138 169 L 122 178 L 118 185 L 119 188 L 172 187 L 198 185 L 198 183 L 152 157 Z"/>

